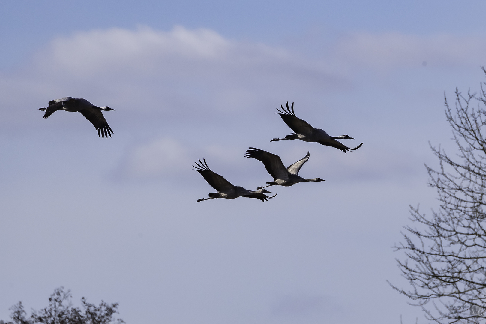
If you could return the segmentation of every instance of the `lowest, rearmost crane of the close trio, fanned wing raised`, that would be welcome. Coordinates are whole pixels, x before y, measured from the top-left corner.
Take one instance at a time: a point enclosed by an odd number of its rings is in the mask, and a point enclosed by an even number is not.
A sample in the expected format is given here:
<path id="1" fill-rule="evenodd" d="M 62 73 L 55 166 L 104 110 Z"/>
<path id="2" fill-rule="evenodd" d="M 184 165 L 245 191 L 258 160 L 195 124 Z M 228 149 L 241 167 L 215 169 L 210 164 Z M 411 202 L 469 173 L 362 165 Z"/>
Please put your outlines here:
<path id="1" fill-rule="evenodd" d="M 268 198 L 273 198 L 277 196 L 277 194 L 273 196 L 267 196 L 265 193 L 271 193 L 266 189 L 261 189 L 257 191 L 250 191 L 246 190 L 243 187 L 233 186 L 228 180 L 223 178 L 218 173 L 211 171 L 208 167 L 208 163 L 206 163 L 206 159 L 203 159 L 204 162 L 199 159 L 199 163 L 196 163 L 196 166 L 192 166 L 195 171 L 201 173 L 201 175 L 206 179 L 208 184 L 218 190 L 218 192 L 212 192 L 209 194 L 209 198 L 201 198 L 197 200 L 197 203 L 202 202 L 203 200 L 215 199 L 215 198 L 225 198 L 225 199 L 235 199 L 238 197 L 247 197 L 247 198 L 257 198 L 260 199 L 262 202 L 268 201 Z"/>

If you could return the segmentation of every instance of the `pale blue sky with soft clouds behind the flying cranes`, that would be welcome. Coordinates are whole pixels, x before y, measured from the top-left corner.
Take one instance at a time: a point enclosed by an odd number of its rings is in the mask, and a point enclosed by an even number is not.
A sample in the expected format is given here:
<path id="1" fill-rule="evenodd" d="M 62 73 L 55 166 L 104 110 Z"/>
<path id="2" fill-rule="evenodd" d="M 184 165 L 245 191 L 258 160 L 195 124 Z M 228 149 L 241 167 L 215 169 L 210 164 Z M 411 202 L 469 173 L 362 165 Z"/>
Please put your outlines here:
<path id="1" fill-rule="evenodd" d="M 0 2 L 0 318 L 55 287 L 119 302 L 127 323 L 403 323 L 419 309 L 391 246 L 436 207 L 423 163 L 444 113 L 485 76 L 483 2 Z M 424 63 L 426 62 L 426 64 Z M 108 105 L 102 139 L 72 96 Z M 302 141 L 285 102 L 352 153 Z M 191 165 L 271 177 L 248 147 L 326 179 L 210 200 Z M 377 320 L 379 319 L 379 320 Z M 420 322 L 422 321 L 422 322 Z"/>

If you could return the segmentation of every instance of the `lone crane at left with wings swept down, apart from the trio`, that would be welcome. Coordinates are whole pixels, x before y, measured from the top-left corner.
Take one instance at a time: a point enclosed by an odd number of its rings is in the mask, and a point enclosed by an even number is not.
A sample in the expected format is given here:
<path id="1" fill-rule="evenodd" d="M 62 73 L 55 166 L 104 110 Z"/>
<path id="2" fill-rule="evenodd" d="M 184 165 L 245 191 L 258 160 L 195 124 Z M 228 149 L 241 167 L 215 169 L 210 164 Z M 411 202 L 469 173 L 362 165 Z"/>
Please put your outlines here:
<path id="1" fill-rule="evenodd" d="M 102 110 L 115 110 L 108 106 L 98 107 L 83 98 L 64 97 L 61 99 L 51 100 L 47 108 L 39 108 L 39 110 L 46 112 L 44 114 L 44 118 L 48 118 L 57 110 L 79 111 L 84 117 L 86 117 L 87 120 L 91 121 L 93 126 L 98 131 L 98 136 L 108 138 L 108 135 L 111 137 L 111 134 L 113 134 L 113 131 L 106 122 L 106 119 L 104 119 L 103 113 L 101 112 Z"/>

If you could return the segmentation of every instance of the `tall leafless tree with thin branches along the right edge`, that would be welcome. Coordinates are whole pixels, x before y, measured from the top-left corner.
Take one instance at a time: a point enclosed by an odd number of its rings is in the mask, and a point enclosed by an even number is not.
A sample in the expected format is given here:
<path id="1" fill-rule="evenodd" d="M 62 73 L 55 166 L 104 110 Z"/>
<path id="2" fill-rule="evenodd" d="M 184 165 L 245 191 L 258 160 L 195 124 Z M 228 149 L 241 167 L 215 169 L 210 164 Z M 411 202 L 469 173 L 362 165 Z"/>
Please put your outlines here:
<path id="1" fill-rule="evenodd" d="M 482 67 L 486 74 L 486 70 Z M 426 319 L 441 324 L 486 322 L 486 93 L 461 94 L 455 107 L 445 97 L 446 118 L 457 154 L 431 149 L 439 167 L 425 166 L 440 207 L 431 216 L 411 208 L 397 259 L 410 290 L 392 287 L 421 307 Z"/>

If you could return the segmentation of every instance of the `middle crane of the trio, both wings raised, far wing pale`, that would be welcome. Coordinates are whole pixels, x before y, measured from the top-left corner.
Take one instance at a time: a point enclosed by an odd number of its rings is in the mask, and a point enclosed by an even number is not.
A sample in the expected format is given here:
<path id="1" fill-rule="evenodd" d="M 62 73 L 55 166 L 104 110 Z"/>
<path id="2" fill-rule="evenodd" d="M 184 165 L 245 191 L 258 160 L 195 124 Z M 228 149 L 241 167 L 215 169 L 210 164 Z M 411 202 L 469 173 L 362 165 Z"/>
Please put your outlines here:
<path id="1" fill-rule="evenodd" d="M 275 185 L 290 187 L 299 182 L 326 181 L 321 178 L 305 179 L 298 174 L 300 168 L 302 168 L 304 163 L 309 160 L 309 156 L 311 156 L 311 154 L 307 152 L 306 156 L 285 168 L 282 163 L 282 159 L 280 159 L 280 156 L 278 156 L 277 154 L 263 151 L 254 147 L 249 147 L 249 150 L 247 150 L 245 153 L 246 158 L 253 157 L 254 159 L 263 162 L 265 169 L 267 169 L 268 173 L 270 173 L 270 175 L 274 178 L 274 181 L 267 182 L 268 186 L 258 187 L 257 189 L 262 189 Z"/>

